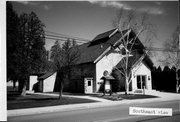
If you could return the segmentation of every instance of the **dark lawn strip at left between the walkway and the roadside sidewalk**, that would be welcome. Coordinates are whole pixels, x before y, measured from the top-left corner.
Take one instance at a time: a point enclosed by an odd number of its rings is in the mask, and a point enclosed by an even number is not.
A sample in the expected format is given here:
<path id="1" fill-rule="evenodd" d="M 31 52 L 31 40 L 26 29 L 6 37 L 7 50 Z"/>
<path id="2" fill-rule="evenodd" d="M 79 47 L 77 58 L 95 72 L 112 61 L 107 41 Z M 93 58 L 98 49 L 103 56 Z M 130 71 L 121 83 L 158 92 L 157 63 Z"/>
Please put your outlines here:
<path id="1" fill-rule="evenodd" d="M 61 100 L 59 100 L 58 97 L 35 94 L 27 94 L 25 97 L 23 97 L 20 96 L 17 92 L 9 92 L 7 95 L 8 110 L 91 102 L 97 101 L 72 97 L 63 97 Z"/>

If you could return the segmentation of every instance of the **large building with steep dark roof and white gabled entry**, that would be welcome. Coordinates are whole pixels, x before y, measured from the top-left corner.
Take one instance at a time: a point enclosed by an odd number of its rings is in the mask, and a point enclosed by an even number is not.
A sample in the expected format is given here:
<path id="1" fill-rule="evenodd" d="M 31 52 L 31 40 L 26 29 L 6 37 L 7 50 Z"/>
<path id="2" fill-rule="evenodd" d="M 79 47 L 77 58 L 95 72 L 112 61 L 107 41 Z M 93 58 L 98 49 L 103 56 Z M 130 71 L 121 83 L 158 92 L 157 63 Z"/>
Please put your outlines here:
<path id="1" fill-rule="evenodd" d="M 130 32 L 130 38 L 135 36 L 133 31 L 123 31 L 124 36 Z M 98 92 L 101 85 L 103 72 L 107 70 L 112 72 L 112 69 L 120 63 L 125 57 L 117 48 L 122 45 L 122 35 L 118 29 L 113 29 L 108 32 L 97 35 L 91 42 L 79 45 L 81 53 L 80 59 L 77 62 L 76 74 L 73 74 L 73 82 L 70 83 L 72 92 L 93 93 Z M 115 47 L 115 48 L 112 48 Z M 136 53 L 131 55 L 133 58 L 129 64 L 132 72 L 132 90 L 136 89 L 152 89 L 151 67 L 152 61 L 148 56 L 144 56 L 144 46 L 137 38 L 133 49 L 138 49 Z M 135 57 L 135 58 L 134 58 Z"/>

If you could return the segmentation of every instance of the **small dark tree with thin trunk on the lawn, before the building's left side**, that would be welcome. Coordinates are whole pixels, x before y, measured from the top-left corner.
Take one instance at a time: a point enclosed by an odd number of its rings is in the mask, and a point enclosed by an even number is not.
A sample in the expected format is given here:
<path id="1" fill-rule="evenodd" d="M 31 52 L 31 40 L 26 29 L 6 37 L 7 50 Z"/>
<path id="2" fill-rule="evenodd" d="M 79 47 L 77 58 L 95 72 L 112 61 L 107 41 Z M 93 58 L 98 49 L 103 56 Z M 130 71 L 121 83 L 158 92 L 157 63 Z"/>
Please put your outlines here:
<path id="1" fill-rule="evenodd" d="M 71 43 L 67 40 L 62 44 L 62 48 L 58 41 L 51 48 L 51 60 L 54 63 L 60 82 L 59 99 L 62 97 L 64 83 L 71 79 L 72 67 L 76 64 L 80 57 L 80 52 L 75 41 Z"/>

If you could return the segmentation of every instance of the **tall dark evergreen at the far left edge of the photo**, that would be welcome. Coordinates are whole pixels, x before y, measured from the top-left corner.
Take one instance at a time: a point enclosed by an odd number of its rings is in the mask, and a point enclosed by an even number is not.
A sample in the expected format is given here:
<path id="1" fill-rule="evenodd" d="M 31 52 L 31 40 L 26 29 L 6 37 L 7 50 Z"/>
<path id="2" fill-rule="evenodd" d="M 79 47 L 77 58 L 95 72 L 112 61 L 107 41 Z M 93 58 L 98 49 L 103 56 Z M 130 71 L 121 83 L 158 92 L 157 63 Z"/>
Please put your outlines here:
<path id="1" fill-rule="evenodd" d="M 14 87 L 18 79 L 17 69 L 17 52 L 18 52 L 18 30 L 19 18 L 17 13 L 13 10 L 11 2 L 7 2 L 7 79 L 12 80 Z"/>

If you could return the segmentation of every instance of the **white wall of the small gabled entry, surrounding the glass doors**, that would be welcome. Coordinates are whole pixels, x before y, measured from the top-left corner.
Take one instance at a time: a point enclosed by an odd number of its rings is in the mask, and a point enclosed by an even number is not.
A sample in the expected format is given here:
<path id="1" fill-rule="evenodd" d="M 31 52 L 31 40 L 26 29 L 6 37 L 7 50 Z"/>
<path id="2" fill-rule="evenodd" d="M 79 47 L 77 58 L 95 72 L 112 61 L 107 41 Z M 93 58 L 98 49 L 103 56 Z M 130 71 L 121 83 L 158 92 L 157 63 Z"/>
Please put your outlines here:
<path id="1" fill-rule="evenodd" d="M 137 75 L 145 75 L 146 76 L 146 88 L 148 90 L 152 90 L 151 71 L 143 63 L 136 66 L 132 70 L 132 90 L 137 89 Z"/>

